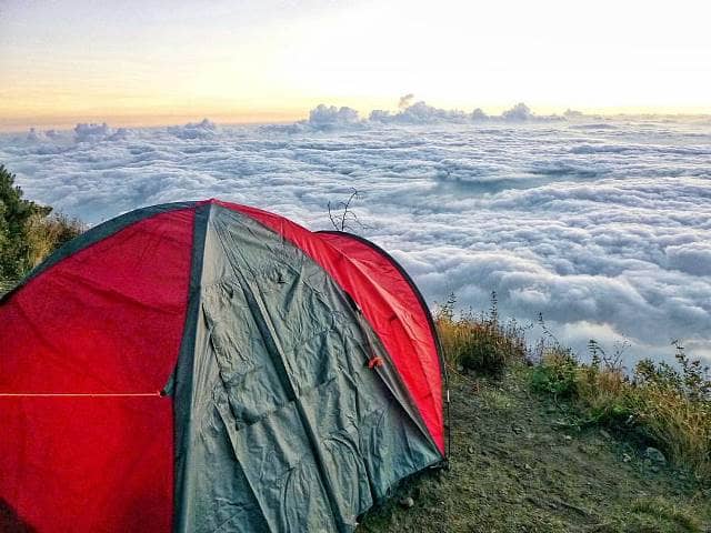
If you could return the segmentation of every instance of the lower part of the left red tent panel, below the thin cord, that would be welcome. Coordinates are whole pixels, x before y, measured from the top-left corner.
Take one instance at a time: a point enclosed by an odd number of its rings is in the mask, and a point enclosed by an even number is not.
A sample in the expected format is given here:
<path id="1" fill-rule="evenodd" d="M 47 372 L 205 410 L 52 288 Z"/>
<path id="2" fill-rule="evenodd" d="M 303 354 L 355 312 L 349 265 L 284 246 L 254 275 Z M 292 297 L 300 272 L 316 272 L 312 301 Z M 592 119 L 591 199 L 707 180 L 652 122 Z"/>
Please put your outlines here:
<path id="1" fill-rule="evenodd" d="M 169 398 L 2 396 L 0 428 L 0 531 L 170 531 Z"/>

